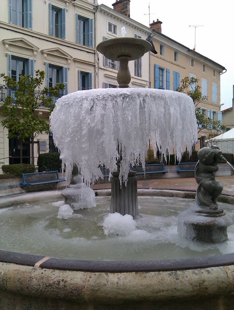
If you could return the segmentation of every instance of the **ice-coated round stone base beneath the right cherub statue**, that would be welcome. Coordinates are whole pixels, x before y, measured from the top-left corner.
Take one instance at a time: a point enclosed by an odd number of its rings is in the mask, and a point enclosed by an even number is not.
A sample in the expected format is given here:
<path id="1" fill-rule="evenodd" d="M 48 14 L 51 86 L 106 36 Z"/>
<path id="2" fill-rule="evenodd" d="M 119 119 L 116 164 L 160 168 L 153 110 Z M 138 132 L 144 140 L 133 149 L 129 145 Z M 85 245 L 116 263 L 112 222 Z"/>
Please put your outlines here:
<path id="1" fill-rule="evenodd" d="M 228 240 L 227 227 L 233 224 L 233 219 L 223 210 L 200 210 L 194 203 L 178 215 L 177 223 L 177 232 L 182 238 L 218 243 Z"/>

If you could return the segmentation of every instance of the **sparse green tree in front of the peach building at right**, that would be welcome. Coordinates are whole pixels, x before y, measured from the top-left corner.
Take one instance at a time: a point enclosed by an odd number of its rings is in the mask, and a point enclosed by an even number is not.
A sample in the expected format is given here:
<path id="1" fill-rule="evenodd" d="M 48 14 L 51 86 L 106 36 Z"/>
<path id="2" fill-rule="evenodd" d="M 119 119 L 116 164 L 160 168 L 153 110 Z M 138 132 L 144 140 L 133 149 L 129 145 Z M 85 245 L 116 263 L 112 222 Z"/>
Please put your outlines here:
<path id="1" fill-rule="evenodd" d="M 206 129 L 207 138 L 210 139 L 209 137 L 214 136 L 212 131 L 213 129 L 221 131 L 225 129 L 225 126 L 223 126 L 220 121 L 213 121 L 210 117 L 206 117 L 206 115 L 202 112 L 202 109 L 198 107 L 200 102 L 207 100 L 207 96 L 202 95 L 201 86 L 198 85 L 198 82 L 199 80 L 197 78 L 185 77 L 181 80 L 181 86 L 178 87 L 176 91 L 185 93 L 192 98 L 195 105 L 198 132 Z M 216 133 L 216 135 L 219 134 L 219 132 Z"/>

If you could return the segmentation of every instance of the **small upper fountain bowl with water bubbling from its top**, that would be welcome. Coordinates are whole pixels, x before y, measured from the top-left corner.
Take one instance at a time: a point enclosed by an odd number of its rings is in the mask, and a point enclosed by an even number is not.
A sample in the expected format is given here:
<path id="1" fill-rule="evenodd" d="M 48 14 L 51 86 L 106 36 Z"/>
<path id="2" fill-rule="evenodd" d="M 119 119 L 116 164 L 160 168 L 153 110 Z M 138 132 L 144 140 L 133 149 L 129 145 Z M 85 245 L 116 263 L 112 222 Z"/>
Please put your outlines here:
<path id="1" fill-rule="evenodd" d="M 121 56 L 127 56 L 128 60 L 142 57 L 152 49 L 152 45 L 138 38 L 114 38 L 98 44 L 97 50 L 111 60 L 119 60 Z"/>

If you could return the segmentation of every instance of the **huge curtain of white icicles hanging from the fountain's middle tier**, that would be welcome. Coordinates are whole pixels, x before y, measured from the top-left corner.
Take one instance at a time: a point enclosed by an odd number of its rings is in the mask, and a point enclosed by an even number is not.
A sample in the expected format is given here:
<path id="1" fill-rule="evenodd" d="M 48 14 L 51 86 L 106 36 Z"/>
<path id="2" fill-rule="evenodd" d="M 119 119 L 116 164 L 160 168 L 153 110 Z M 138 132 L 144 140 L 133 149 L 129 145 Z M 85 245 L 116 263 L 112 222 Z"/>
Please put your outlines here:
<path id="1" fill-rule="evenodd" d="M 117 140 L 122 145 L 120 179 L 126 183 L 130 164 L 145 167 L 150 139 L 177 158 L 197 140 L 195 107 L 183 93 L 143 88 L 77 91 L 57 100 L 50 116 L 53 139 L 59 148 L 66 178 L 76 163 L 87 184 L 102 177 L 99 164 L 116 169 Z"/>

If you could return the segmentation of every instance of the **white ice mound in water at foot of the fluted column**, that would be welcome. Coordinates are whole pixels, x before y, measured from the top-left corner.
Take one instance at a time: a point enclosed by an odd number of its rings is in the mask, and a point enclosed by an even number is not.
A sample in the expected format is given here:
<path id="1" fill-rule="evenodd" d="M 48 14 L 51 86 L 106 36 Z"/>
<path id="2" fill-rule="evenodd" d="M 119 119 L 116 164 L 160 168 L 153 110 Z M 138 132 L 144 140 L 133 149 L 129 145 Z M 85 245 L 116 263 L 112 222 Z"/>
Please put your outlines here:
<path id="1" fill-rule="evenodd" d="M 124 236 L 135 229 L 136 222 L 129 214 L 110 213 L 103 222 L 103 230 L 107 236 Z"/>

